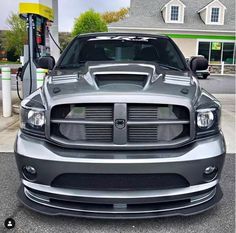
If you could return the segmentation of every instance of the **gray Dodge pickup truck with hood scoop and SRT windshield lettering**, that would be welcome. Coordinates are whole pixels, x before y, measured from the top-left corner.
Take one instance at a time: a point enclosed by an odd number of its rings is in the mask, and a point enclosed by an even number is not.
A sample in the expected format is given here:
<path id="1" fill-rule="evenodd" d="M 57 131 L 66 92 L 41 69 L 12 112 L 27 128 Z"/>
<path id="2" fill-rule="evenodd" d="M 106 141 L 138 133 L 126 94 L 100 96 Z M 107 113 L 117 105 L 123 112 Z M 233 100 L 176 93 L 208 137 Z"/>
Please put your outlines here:
<path id="1" fill-rule="evenodd" d="M 51 71 L 22 101 L 15 143 L 24 205 L 127 219 L 197 214 L 222 198 L 221 106 L 170 38 L 79 35 L 39 66 Z"/>

